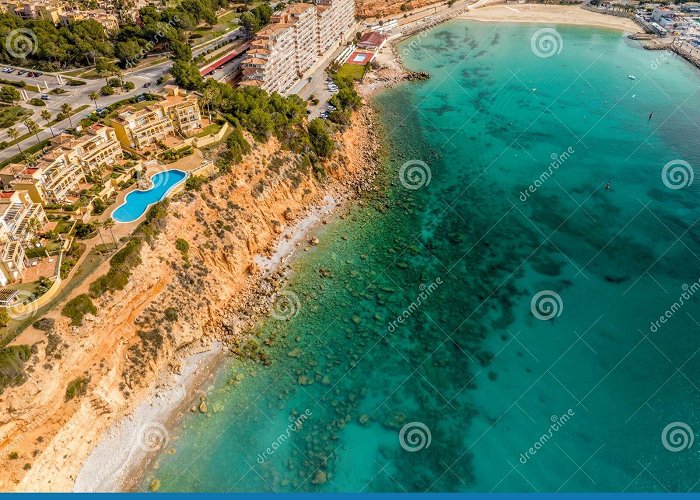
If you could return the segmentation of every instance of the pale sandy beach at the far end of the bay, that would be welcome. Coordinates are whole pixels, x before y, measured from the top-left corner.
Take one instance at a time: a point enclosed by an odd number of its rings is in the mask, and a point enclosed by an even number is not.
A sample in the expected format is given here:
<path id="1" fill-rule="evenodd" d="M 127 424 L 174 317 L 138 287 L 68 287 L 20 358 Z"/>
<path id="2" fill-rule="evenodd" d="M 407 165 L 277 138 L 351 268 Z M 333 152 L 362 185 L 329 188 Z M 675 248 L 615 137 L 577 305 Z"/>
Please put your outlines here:
<path id="1" fill-rule="evenodd" d="M 625 17 L 599 14 L 573 5 L 510 4 L 470 9 L 458 19 L 497 23 L 574 24 L 634 33 L 641 28 Z"/>

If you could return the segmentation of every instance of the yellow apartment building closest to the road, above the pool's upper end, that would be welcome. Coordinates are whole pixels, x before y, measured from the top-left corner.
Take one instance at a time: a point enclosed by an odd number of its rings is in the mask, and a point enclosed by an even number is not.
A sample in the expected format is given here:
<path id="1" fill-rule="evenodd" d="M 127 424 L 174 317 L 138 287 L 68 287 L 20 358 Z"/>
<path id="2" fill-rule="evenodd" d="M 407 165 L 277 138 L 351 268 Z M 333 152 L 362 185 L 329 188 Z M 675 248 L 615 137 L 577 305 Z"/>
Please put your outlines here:
<path id="1" fill-rule="evenodd" d="M 188 136 L 201 127 L 197 96 L 172 85 L 165 92 L 161 101 L 141 110 L 127 108 L 112 121 L 119 142 L 141 149 L 175 132 Z"/>

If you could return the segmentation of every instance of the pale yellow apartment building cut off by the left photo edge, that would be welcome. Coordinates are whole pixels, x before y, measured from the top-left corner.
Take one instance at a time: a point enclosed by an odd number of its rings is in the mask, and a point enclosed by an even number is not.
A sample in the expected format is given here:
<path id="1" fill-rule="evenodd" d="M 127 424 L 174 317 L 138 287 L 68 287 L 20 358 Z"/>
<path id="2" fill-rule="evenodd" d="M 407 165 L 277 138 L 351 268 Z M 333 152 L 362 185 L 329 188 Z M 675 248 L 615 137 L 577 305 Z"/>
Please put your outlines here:
<path id="1" fill-rule="evenodd" d="M 0 285 L 22 279 L 24 245 L 46 222 L 44 209 L 26 191 L 0 192 Z"/>

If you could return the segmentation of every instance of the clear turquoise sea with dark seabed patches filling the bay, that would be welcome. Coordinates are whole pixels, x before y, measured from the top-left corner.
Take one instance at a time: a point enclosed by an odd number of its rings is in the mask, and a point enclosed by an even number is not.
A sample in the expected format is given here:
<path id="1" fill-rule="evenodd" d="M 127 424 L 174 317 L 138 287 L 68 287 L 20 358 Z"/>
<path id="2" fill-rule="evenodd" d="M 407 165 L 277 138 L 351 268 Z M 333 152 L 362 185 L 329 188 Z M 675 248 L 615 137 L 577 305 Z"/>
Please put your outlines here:
<path id="1" fill-rule="evenodd" d="M 400 51 L 381 189 L 142 488 L 700 491 L 700 73 L 584 27 Z"/>

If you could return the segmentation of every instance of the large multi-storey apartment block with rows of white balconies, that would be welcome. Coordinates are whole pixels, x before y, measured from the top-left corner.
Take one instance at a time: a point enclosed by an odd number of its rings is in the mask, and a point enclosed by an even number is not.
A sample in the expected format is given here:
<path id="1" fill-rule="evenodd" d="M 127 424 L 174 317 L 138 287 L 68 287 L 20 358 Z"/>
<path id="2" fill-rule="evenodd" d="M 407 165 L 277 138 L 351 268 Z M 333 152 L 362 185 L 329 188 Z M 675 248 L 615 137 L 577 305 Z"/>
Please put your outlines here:
<path id="1" fill-rule="evenodd" d="M 241 85 L 288 92 L 355 23 L 354 0 L 295 3 L 272 16 L 241 63 Z"/>

